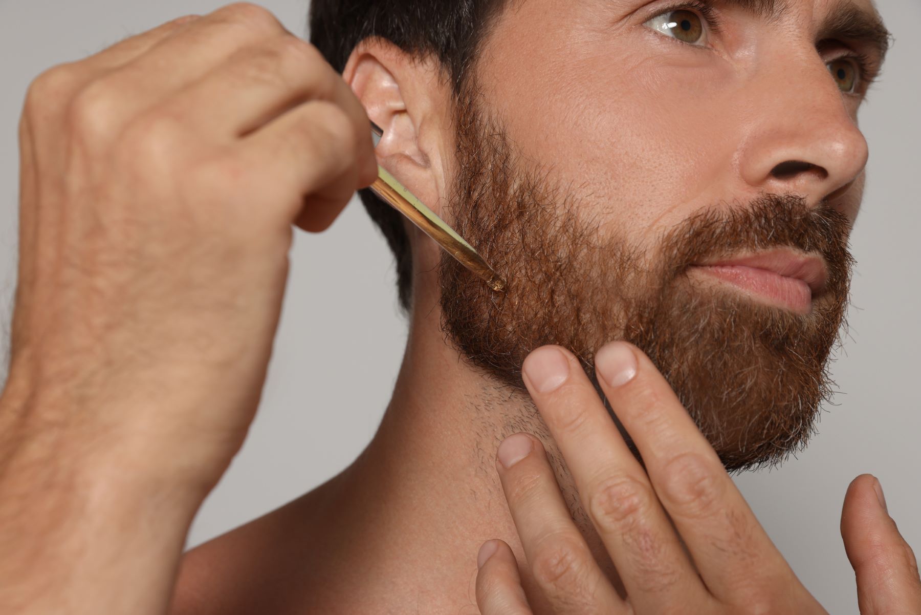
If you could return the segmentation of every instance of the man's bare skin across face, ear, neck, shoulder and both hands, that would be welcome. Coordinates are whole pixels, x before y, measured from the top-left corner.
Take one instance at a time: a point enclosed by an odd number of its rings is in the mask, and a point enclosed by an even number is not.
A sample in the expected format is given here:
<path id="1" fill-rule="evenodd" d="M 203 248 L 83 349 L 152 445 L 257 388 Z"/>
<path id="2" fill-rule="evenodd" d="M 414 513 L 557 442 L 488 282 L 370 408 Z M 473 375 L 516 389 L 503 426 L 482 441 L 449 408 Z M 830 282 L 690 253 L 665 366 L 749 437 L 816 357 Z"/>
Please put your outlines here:
<path id="1" fill-rule="evenodd" d="M 554 152 L 558 180 L 598 195 L 586 216 L 651 242 L 704 204 L 764 190 L 828 197 L 857 215 L 866 144 L 859 101 L 842 96 L 815 49 L 824 3 L 791 2 L 771 23 L 730 12 L 719 53 L 660 41 L 628 18 L 638 3 L 603 13 L 601 2 L 559 4 L 527 0 L 501 18 L 479 77 L 521 151 L 538 161 Z M 624 71 L 631 78 L 614 78 Z M 413 229 L 410 335 L 366 451 L 318 489 L 182 557 L 189 523 L 258 404 L 292 224 L 326 228 L 373 180 L 375 156 L 452 221 L 454 133 L 441 77 L 433 62 L 381 41 L 363 41 L 337 77 L 263 9 L 236 5 L 33 83 L 20 124 L 19 287 L 0 398 L 0 610 L 519 615 L 574 604 L 617 612 L 626 597 L 640 613 L 669 612 L 678 599 L 690 612 L 821 612 L 647 359 L 632 349 L 635 377 L 607 393 L 649 455 L 648 479 L 571 357 L 555 393 L 538 391 L 536 376 L 526 376 L 527 392 L 497 388 L 459 361 L 440 330 L 439 250 Z M 535 101 L 534 91 L 546 95 Z M 385 130 L 373 152 L 362 107 Z M 676 114 L 700 118 L 703 142 L 676 133 Z M 771 172 L 785 160 L 815 167 Z M 530 355 L 525 373 L 540 361 Z M 600 426 L 584 450 L 566 433 L 580 422 Z M 498 445 L 516 432 L 536 434 L 522 437 L 569 469 L 554 476 L 529 455 L 496 472 Z M 703 483 L 662 481 L 666 442 L 698 462 L 689 467 Z M 625 476 L 633 482 L 620 484 L 646 496 L 636 500 L 641 514 L 617 514 L 630 498 L 582 505 Z M 701 484 L 714 489 L 686 497 Z M 914 556 L 874 486 L 852 484 L 842 520 L 860 608 L 914 612 Z M 735 512 L 746 540 L 726 544 L 764 564 L 759 575 L 740 580 L 714 565 L 706 538 L 729 538 L 700 514 L 707 505 Z M 600 519 L 610 523 L 599 531 Z M 623 538 L 631 520 L 658 538 L 640 550 L 646 559 Z M 546 536 L 568 538 L 572 557 L 540 557 Z M 490 542 L 478 573 L 487 538 L 501 542 Z M 661 592 L 637 584 L 649 567 L 672 573 L 652 576 Z M 589 582 L 595 591 L 579 591 Z"/>

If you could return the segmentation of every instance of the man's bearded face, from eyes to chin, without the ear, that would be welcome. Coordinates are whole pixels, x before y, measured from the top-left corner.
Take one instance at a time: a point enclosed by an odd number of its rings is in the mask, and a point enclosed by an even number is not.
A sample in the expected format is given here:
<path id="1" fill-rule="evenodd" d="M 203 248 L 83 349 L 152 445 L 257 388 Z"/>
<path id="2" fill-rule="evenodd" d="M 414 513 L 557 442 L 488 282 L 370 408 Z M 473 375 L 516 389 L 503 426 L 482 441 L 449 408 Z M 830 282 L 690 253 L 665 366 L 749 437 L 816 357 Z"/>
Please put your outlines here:
<path id="1" fill-rule="evenodd" d="M 562 344 L 590 371 L 626 338 L 730 469 L 805 443 L 845 311 L 874 16 L 512 0 L 461 96 L 449 199 L 509 287 L 443 259 L 461 352 L 520 388 L 530 349 Z"/>

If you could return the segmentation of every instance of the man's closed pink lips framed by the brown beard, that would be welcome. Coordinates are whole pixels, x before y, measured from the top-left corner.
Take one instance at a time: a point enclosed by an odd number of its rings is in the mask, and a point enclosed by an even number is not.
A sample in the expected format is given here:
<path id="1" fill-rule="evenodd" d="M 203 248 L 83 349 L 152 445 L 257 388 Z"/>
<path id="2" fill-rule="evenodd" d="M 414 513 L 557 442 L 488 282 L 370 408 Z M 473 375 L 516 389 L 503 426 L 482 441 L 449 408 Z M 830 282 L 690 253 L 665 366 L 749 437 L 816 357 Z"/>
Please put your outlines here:
<path id="1" fill-rule="evenodd" d="M 809 313 L 812 299 L 825 289 L 828 270 L 818 254 L 778 249 L 695 263 L 691 271 L 746 291 L 766 302 Z"/>

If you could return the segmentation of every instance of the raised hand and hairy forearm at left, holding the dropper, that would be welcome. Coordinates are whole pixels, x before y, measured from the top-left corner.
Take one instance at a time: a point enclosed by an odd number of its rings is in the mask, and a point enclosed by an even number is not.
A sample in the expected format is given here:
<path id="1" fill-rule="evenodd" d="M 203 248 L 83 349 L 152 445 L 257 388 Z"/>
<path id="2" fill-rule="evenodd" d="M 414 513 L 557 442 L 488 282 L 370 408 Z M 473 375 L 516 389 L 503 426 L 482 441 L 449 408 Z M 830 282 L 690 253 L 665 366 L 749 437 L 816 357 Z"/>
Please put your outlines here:
<path id="1" fill-rule="evenodd" d="M 0 612 L 159 612 L 257 406 L 292 224 L 325 229 L 376 177 L 367 115 L 237 4 L 46 71 L 19 139 Z"/>

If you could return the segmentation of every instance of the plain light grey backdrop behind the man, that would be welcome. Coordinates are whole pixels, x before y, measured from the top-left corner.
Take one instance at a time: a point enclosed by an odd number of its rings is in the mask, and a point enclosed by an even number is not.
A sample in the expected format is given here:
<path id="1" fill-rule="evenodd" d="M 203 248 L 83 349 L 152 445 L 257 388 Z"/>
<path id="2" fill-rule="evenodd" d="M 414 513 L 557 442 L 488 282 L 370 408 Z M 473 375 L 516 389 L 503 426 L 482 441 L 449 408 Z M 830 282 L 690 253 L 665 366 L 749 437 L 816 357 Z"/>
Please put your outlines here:
<path id="1" fill-rule="evenodd" d="M 573 0 L 577 1 L 577 0 Z M 8 329 L 17 259 L 17 121 L 29 82 L 123 37 L 224 3 L 208 0 L 0 0 L 0 305 Z M 307 0 L 266 0 L 306 35 Z M 857 613 L 838 524 L 848 482 L 880 478 L 889 509 L 921 550 L 917 267 L 921 212 L 921 0 L 880 0 L 896 43 L 860 123 L 869 182 L 852 238 L 858 265 L 840 393 L 798 459 L 736 479 L 799 578 L 832 613 Z M 406 325 L 391 255 L 354 200 L 330 231 L 298 232 L 262 407 L 242 451 L 198 514 L 198 544 L 309 491 L 346 467 L 390 399 Z M 6 342 L 4 342 L 6 344 Z M 484 537 L 488 538 L 488 537 Z M 476 554 L 459 554 L 474 565 Z"/>

